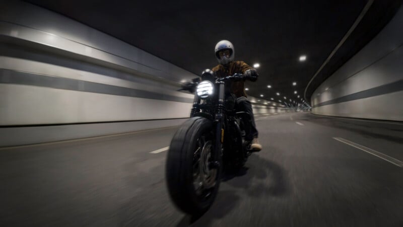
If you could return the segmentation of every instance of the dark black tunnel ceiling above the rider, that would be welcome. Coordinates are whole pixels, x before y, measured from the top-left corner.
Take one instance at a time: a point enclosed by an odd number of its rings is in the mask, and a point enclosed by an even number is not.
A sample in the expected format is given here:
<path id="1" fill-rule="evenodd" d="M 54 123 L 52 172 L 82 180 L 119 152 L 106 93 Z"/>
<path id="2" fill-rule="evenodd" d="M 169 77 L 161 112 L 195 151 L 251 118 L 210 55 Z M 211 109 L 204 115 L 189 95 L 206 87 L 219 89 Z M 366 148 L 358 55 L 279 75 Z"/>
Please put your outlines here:
<path id="1" fill-rule="evenodd" d="M 215 44 L 230 40 L 235 60 L 260 63 L 248 94 L 303 97 L 309 80 L 367 4 L 355 1 L 48 1 L 27 2 L 60 13 L 139 47 L 195 74 L 217 65 Z M 308 88 L 307 98 L 360 50 L 401 1 L 377 1 Z M 299 62 L 305 54 L 307 60 Z M 297 86 L 292 86 L 297 82 Z M 272 88 L 268 89 L 267 85 Z M 277 98 L 276 98 L 277 100 Z M 307 101 L 308 101 L 307 100 Z"/>

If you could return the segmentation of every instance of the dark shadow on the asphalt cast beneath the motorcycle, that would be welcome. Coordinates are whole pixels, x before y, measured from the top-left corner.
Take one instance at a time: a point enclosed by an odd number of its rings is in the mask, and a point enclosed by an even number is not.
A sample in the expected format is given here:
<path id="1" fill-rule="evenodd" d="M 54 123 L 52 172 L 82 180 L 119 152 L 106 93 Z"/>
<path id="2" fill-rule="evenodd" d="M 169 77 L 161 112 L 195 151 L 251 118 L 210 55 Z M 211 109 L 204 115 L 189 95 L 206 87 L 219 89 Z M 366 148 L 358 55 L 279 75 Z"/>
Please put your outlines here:
<path id="1" fill-rule="evenodd" d="M 209 226 L 225 217 L 237 206 L 242 197 L 286 196 L 290 193 L 288 175 L 275 162 L 249 157 L 247 166 L 233 173 L 224 173 L 222 188 L 213 206 L 202 216 L 186 215 L 177 226 Z M 230 187 L 230 190 L 227 188 Z"/>

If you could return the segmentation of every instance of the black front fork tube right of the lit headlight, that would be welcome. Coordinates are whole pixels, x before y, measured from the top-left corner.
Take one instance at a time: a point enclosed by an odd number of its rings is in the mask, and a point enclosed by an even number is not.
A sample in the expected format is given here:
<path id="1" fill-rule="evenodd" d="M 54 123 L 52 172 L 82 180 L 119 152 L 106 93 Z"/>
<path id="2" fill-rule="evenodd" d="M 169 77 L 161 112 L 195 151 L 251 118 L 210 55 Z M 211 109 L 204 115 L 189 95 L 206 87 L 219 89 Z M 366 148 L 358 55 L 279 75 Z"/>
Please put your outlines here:
<path id="1" fill-rule="evenodd" d="M 214 118 L 214 122 L 216 123 L 216 144 L 214 149 L 214 158 L 215 161 L 219 161 L 222 155 L 221 152 L 221 136 L 222 136 L 222 128 L 223 128 L 223 119 L 224 119 L 224 82 L 219 82 L 219 95 L 218 95 L 218 104 L 216 109 L 216 116 Z"/>

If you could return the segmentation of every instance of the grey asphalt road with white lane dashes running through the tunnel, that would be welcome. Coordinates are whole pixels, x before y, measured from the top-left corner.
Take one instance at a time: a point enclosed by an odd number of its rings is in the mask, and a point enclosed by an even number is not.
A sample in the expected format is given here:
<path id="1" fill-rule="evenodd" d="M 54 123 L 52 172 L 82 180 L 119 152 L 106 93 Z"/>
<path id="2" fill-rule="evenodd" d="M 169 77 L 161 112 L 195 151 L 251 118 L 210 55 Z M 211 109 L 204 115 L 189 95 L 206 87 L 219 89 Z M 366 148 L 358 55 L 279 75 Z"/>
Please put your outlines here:
<path id="1" fill-rule="evenodd" d="M 403 226 L 402 123 L 310 113 L 256 123 L 263 150 L 198 218 L 169 200 L 166 152 L 150 153 L 176 128 L 0 148 L 0 225 Z"/>

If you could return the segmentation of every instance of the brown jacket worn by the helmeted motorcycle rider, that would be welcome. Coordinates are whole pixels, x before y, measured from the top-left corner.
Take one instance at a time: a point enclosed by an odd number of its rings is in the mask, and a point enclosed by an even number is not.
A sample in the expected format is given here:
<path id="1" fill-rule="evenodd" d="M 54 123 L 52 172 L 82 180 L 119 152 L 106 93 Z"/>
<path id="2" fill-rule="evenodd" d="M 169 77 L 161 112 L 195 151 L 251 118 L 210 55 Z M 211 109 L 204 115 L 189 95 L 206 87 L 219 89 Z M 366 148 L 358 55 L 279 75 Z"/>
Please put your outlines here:
<path id="1" fill-rule="evenodd" d="M 227 77 L 227 75 L 233 75 L 234 73 L 245 73 L 250 68 L 252 67 L 243 61 L 233 61 L 225 66 L 219 64 L 212 68 L 212 70 L 216 73 L 217 77 Z M 243 81 L 232 82 L 228 87 L 230 88 L 229 91 L 235 94 L 237 98 L 242 96 L 247 97 Z"/>

